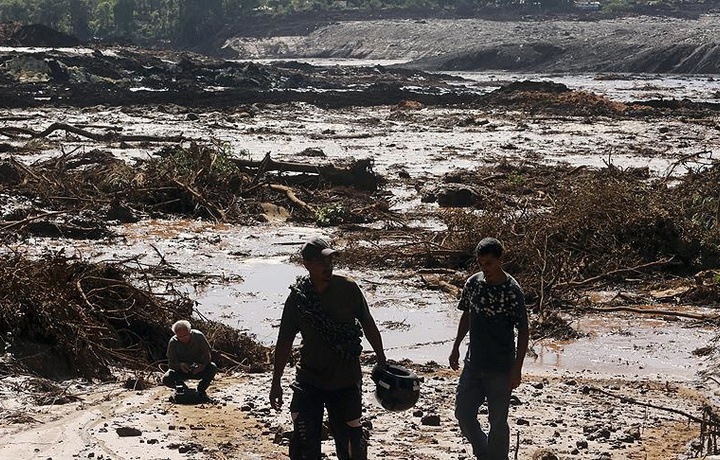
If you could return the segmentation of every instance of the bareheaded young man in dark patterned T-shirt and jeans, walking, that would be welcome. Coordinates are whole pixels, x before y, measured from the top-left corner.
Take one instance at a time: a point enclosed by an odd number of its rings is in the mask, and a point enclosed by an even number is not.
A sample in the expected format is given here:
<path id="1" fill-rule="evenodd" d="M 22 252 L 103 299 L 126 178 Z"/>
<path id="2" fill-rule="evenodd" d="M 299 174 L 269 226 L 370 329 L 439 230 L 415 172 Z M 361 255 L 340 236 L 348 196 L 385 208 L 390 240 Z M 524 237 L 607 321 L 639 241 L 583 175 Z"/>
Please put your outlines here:
<path id="1" fill-rule="evenodd" d="M 459 369 L 460 344 L 470 332 L 470 346 L 458 382 L 455 417 L 478 460 L 507 460 L 510 450 L 510 394 L 520 385 L 528 347 L 528 319 L 520 285 L 502 268 L 504 248 L 484 238 L 475 248 L 480 271 L 463 287 L 458 309 L 462 316 L 450 353 L 450 367 Z M 515 329 L 518 331 L 517 349 Z M 487 402 L 487 434 L 478 409 Z"/>

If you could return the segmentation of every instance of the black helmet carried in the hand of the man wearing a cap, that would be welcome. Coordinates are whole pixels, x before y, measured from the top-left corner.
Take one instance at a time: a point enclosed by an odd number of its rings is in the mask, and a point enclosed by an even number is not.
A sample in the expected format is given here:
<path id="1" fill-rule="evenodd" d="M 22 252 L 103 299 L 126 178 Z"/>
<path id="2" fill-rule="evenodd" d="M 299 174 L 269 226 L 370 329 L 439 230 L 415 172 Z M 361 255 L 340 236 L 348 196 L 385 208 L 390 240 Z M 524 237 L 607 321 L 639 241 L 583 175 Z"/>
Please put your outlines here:
<path id="1" fill-rule="evenodd" d="M 381 368 L 373 367 L 375 399 L 387 410 L 402 411 L 410 409 L 420 396 L 421 379 L 409 369 L 395 364 Z"/>

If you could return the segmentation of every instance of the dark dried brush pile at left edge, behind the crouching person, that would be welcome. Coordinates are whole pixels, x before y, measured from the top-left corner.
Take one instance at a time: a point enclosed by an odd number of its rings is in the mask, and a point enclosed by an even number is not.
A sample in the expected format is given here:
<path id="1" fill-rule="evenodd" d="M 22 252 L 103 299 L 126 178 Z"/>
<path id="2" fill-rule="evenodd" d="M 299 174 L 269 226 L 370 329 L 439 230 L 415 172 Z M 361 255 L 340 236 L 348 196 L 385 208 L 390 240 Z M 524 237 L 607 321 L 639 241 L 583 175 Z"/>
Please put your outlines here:
<path id="1" fill-rule="evenodd" d="M 0 331 L 14 365 L 51 378 L 112 378 L 112 369 L 153 369 L 165 359 L 169 326 L 190 318 L 193 302 L 140 289 L 119 264 L 91 264 L 52 254 L 20 255 L 0 265 Z M 264 348 L 205 321 L 234 361 L 261 366 Z"/>

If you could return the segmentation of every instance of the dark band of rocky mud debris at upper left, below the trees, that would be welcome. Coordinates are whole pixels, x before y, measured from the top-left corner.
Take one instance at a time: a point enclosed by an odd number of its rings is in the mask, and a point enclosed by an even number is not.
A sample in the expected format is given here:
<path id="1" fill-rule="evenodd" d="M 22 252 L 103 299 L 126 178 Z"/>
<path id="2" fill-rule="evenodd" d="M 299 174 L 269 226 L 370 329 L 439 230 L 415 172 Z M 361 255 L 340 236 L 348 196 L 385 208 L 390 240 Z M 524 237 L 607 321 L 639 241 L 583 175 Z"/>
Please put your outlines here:
<path id="1" fill-rule="evenodd" d="M 0 105 L 6 107 L 181 103 L 200 108 L 289 101 L 343 107 L 405 100 L 428 104 L 470 101 L 471 93 L 452 88 L 456 80 L 380 66 L 347 72 L 335 67 L 262 65 L 129 47 L 97 48 L 92 53 L 0 53 Z M 423 89 L 428 85 L 444 90 Z M 194 112 L 187 115 L 194 116 Z"/>

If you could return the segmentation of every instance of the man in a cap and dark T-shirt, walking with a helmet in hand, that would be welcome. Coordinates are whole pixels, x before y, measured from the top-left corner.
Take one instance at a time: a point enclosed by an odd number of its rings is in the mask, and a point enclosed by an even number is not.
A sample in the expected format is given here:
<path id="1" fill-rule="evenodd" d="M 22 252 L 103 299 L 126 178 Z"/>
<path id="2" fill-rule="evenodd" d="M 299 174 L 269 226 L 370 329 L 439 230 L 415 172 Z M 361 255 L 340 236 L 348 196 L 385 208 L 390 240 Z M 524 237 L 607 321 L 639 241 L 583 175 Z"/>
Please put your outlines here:
<path id="1" fill-rule="evenodd" d="M 367 458 L 360 425 L 363 332 L 380 366 L 385 366 L 385 352 L 360 287 L 351 278 L 333 274 L 335 252 L 323 238 L 305 242 L 301 255 L 308 275 L 298 277 L 290 287 L 280 321 L 270 389 L 270 404 L 275 410 L 282 407 L 280 379 L 293 341 L 298 332 L 302 337 L 295 382 L 291 385 L 292 460 L 320 458 L 324 409 L 338 459 Z"/>

